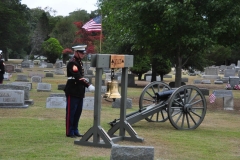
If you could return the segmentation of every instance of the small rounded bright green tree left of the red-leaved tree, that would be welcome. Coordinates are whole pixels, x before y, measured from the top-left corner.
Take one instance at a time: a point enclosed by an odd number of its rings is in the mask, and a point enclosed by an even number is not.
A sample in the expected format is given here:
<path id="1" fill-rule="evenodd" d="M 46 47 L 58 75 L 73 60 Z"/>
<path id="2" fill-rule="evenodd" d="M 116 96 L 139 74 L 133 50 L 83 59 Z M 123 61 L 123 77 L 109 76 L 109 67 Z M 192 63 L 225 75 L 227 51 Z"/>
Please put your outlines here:
<path id="1" fill-rule="evenodd" d="M 44 52 L 43 55 L 47 57 L 47 60 L 50 63 L 55 63 L 57 58 L 61 57 L 63 51 L 63 47 L 55 38 L 49 38 L 47 41 L 44 41 L 42 44 L 42 49 Z"/>

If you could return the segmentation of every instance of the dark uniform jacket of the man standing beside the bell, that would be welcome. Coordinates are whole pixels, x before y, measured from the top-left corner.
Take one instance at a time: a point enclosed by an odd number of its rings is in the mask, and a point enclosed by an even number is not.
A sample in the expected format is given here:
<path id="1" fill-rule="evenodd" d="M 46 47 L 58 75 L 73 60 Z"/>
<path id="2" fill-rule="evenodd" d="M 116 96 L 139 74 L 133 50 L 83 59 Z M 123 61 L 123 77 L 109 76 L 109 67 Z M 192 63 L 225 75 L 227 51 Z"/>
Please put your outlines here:
<path id="1" fill-rule="evenodd" d="M 67 83 L 64 89 L 66 96 L 85 97 L 85 87 L 90 83 L 86 80 L 79 80 L 84 76 L 84 69 L 81 59 L 73 57 L 67 64 Z"/>

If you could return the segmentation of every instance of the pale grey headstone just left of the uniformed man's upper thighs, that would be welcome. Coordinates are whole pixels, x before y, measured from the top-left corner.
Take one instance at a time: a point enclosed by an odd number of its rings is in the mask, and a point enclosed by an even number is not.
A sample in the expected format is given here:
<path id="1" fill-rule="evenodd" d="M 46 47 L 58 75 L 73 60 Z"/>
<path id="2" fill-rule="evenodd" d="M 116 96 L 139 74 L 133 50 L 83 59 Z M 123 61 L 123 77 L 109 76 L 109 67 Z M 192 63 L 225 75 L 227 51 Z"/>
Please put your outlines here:
<path id="1" fill-rule="evenodd" d="M 48 97 L 46 108 L 66 108 L 66 97 Z"/>

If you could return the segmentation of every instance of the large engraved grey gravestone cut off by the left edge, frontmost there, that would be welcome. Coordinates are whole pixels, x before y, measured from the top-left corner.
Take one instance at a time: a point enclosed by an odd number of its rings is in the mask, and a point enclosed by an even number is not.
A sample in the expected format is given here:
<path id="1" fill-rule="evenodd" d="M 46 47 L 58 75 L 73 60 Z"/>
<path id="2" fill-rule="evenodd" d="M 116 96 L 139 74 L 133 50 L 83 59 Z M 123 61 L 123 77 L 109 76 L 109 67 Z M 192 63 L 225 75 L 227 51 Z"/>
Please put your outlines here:
<path id="1" fill-rule="evenodd" d="M 0 90 L 1 108 L 27 108 L 24 104 L 23 90 Z"/>

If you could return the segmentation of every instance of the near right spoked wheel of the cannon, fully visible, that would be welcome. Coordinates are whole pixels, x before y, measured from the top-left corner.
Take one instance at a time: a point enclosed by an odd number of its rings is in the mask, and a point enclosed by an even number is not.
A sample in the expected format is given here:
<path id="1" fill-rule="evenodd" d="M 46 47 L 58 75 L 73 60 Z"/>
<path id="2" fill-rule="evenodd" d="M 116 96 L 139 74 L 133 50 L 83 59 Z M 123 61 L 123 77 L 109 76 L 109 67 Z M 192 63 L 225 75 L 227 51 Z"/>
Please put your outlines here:
<path id="1" fill-rule="evenodd" d="M 168 118 L 179 130 L 196 129 L 202 123 L 206 110 L 206 99 L 195 86 L 182 86 L 169 98 Z"/>

